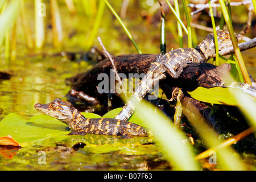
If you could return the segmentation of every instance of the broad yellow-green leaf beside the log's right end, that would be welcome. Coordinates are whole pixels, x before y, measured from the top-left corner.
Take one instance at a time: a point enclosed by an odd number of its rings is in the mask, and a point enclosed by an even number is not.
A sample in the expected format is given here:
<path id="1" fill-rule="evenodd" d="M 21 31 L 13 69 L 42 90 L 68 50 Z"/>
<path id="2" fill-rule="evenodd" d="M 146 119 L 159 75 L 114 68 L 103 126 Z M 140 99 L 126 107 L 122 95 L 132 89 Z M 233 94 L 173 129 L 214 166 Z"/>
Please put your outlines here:
<path id="1" fill-rule="evenodd" d="M 237 106 L 237 100 L 233 97 L 230 97 L 230 92 L 233 93 L 236 91 L 238 91 L 238 89 L 235 88 L 214 87 L 207 89 L 199 86 L 197 89 L 188 93 L 191 95 L 191 97 L 202 102 Z M 251 100 L 255 99 L 251 97 Z"/>

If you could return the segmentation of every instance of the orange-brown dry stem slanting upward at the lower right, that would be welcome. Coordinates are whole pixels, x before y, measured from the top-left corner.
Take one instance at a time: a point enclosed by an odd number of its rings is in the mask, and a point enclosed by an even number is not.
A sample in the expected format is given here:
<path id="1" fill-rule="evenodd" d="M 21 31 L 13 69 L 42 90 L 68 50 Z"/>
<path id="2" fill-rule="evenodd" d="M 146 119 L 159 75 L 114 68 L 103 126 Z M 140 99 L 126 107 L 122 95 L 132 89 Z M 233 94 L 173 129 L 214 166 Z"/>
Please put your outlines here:
<path id="1" fill-rule="evenodd" d="M 247 135 L 250 135 L 251 133 L 253 133 L 254 129 L 253 127 L 250 127 L 249 129 L 245 130 L 245 131 L 242 131 L 240 134 L 232 137 L 232 138 L 229 138 L 227 140 L 225 140 L 224 142 L 218 144 L 216 147 L 213 147 L 213 148 L 209 148 L 208 150 L 202 152 L 201 154 L 197 155 L 195 157 L 196 160 L 199 160 L 199 159 L 204 159 L 204 158 L 208 158 L 210 155 L 209 153 L 211 151 L 214 151 L 214 150 L 218 150 L 219 148 L 222 148 L 222 147 L 227 147 L 227 146 L 231 146 L 232 144 L 238 142 L 239 140 L 245 138 Z"/>

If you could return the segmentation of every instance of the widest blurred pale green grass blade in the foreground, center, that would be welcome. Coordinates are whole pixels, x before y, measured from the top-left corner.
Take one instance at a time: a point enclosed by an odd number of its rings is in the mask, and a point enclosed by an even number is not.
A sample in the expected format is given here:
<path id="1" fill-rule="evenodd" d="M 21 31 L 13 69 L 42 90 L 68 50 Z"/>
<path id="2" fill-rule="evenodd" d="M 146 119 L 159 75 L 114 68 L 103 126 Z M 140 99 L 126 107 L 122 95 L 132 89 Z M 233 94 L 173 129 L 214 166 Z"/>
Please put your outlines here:
<path id="1" fill-rule="evenodd" d="M 145 121 L 148 128 L 152 129 L 156 140 L 164 148 L 168 160 L 179 170 L 198 170 L 199 166 L 193 160 L 193 151 L 188 143 L 182 143 L 185 139 L 182 133 L 160 110 L 142 101 L 137 111 Z M 148 110 L 156 110 L 156 113 L 148 113 Z M 157 122 L 156 122 L 157 121 Z"/>

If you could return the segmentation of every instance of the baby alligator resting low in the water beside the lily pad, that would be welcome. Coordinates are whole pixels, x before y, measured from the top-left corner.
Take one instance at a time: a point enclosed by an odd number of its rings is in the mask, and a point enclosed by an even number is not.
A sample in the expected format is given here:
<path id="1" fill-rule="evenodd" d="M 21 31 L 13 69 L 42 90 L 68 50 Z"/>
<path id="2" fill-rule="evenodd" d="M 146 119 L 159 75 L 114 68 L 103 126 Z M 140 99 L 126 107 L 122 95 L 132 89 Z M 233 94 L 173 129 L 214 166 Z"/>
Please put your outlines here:
<path id="1" fill-rule="evenodd" d="M 151 132 L 135 123 L 120 119 L 86 119 L 70 102 L 56 98 L 49 104 L 36 104 L 35 109 L 64 122 L 72 130 L 69 135 L 115 135 L 122 138 L 150 137 Z"/>

